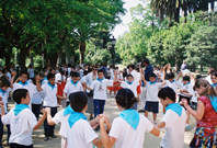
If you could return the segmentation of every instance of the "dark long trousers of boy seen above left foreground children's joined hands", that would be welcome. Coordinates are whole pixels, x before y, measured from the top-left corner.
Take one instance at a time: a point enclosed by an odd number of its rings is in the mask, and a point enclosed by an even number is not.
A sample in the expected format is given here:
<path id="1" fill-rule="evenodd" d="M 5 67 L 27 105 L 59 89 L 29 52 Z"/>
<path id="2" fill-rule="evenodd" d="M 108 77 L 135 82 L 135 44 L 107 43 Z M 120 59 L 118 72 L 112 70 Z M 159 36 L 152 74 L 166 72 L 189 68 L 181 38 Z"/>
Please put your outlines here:
<path id="1" fill-rule="evenodd" d="M 56 113 L 57 113 L 57 107 L 50 107 L 52 117 L 54 117 Z M 46 137 L 53 136 L 54 135 L 54 129 L 55 129 L 55 125 L 48 125 L 47 118 L 45 118 L 45 121 L 44 121 L 45 136 Z"/>

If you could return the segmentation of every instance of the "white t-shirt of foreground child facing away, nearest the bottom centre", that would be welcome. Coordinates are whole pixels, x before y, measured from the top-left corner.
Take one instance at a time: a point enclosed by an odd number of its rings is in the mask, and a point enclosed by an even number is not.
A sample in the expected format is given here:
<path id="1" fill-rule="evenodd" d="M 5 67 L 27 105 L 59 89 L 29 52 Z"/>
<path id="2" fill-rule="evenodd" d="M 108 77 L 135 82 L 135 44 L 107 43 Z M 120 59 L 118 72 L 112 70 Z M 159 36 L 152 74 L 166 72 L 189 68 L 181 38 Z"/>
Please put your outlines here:
<path id="1" fill-rule="evenodd" d="M 123 118 L 114 118 L 108 135 L 116 138 L 116 148 L 144 147 L 145 133 L 152 130 L 153 125 L 144 115 L 139 115 L 139 117 L 136 130 Z"/>

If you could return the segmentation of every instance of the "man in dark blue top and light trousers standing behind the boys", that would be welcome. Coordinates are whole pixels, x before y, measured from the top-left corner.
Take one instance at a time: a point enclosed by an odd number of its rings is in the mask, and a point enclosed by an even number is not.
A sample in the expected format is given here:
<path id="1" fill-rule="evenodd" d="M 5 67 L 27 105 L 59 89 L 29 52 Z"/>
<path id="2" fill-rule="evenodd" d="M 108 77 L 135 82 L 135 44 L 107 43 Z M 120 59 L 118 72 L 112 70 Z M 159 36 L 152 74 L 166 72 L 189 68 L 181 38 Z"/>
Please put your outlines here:
<path id="1" fill-rule="evenodd" d="M 150 73 L 153 72 L 153 67 L 150 65 L 150 61 L 148 58 L 144 58 L 142 65 L 146 67 L 145 71 L 145 79 L 146 81 L 149 81 Z M 144 81 L 141 81 L 141 95 L 140 95 L 140 103 L 141 103 L 141 110 L 138 112 L 145 112 L 145 102 L 146 102 L 146 86 Z"/>

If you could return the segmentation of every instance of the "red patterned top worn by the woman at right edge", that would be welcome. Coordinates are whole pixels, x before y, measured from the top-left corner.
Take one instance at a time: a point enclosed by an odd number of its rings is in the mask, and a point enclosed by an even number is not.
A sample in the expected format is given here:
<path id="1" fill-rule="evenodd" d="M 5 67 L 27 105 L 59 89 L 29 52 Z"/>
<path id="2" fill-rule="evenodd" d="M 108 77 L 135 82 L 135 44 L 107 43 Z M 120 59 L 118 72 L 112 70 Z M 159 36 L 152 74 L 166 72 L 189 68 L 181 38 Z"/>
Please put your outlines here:
<path id="1" fill-rule="evenodd" d="M 197 122 L 197 127 L 215 127 L 217 125 L 217 112 L 212 106 L 207 96 L 201 96 L 198 100 L 204 103 L 205 111 L 202 119 Z"/>

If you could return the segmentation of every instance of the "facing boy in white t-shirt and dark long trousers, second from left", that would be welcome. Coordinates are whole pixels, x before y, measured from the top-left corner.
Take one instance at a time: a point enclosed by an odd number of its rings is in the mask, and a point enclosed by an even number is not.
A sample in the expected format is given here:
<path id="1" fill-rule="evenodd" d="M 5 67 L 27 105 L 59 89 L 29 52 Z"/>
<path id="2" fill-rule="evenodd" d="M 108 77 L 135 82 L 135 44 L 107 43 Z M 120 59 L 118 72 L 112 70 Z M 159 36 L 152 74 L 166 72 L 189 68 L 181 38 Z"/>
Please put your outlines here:
<path id="1" fill-rule="evenodd" d="M 36 76 L 36 86 L 37 86 L 37 91 L 44 91 L 45 98 L 43 102 L 43 107 L 50 107 L 52 109 L 52 116 L 55 116 L 57 113 L 57 84 L 55 83 L 55 75 L 54 73 L 48 73 L 47 75 L 48 82 L 43 84 L 41 88 L 39 83 L 39 77 Z M 59 96 L 60 98 L 60 96 Z M 54 134 L 55 125 L 49 126 L 47 124 L 47 121 L 45 119 L 44 122 L 44 130 L 45 130 L 45 138 L 44 140 L 48 140 L 49 137 L 56 138 Z"/>

